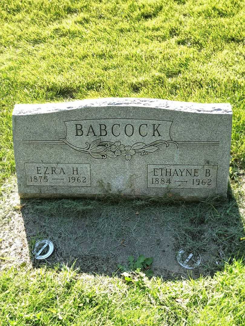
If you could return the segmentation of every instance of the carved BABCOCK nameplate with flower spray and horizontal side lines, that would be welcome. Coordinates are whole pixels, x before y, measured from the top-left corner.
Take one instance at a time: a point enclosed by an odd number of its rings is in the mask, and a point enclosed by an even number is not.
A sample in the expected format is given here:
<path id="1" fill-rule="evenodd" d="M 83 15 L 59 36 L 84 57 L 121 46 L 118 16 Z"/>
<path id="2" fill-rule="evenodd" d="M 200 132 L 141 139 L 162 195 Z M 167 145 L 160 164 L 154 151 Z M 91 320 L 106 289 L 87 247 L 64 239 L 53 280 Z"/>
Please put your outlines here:
<path id="1" fill-rule="evenodd" d="M 64 124 L 65 138 L 23 140 L 23 144 L 66 144 L 93 158 L 123 156 L 126 160 L 137 153 L 140 156 L 154 153 L 162 145 L 173 144 L 176 149 L 179 146 L 219 145 L 219 141 L 173 141 L 172 121 L 167 120 L 108 118 L 64 121 Z"/>

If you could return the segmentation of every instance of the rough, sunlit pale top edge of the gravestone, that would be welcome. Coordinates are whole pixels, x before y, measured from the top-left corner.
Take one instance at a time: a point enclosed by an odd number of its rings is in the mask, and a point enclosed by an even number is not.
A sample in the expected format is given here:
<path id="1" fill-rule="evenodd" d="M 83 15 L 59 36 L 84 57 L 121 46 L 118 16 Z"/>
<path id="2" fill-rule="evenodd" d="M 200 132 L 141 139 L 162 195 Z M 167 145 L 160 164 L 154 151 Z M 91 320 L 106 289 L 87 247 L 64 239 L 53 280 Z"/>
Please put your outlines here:
<path id="1" fill-rule="evenodd" d="M 84 99 L 71 102 L 57 102 L 45 104 L 16 104 L 14 106 L 12 115 L 33 115 L 76 110 L 88 107 L 96 108 L 110 106 L 155 108 L 191 113 L 232 114 L 232 107 L 230 103 L 194 103 L 156 98 L 106 97 L 96 99 Z"/>

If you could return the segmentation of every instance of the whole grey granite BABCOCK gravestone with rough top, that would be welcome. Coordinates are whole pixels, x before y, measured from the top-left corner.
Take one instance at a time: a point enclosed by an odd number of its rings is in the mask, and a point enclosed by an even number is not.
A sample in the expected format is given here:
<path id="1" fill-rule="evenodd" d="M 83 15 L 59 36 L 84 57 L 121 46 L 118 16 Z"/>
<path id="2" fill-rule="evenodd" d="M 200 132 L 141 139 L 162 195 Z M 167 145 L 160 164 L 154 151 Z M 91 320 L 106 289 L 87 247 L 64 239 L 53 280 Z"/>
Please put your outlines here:
<path id="1" fill-rule="evenodd" d="M 226 197 L 232 110 L 149 98 L 17 104 L 22 198 Z"/>

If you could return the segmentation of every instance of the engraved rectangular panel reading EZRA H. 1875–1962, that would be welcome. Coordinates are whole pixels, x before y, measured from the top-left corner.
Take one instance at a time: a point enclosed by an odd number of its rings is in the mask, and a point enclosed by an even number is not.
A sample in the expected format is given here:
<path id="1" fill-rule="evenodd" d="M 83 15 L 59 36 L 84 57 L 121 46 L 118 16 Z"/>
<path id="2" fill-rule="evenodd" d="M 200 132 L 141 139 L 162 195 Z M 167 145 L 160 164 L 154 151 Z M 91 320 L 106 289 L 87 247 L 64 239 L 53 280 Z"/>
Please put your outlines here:
<path id="1" fill-rule="evenodd" d="M 90 164 L 24 163 L 26 185 L 90 187 Z"/>

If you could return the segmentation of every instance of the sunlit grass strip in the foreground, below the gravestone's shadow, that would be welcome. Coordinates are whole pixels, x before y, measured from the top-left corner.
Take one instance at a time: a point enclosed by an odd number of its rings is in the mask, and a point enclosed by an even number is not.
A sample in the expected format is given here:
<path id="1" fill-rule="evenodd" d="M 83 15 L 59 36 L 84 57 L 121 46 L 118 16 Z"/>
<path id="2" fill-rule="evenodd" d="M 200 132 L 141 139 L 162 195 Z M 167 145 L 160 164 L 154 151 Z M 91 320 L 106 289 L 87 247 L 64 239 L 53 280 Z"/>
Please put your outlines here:
<path id="1" fill-rule="evenodd" d="M 211 277 L 162 282 L 45 268 L 0 275 L 1 325 L 244 325 L 245 267 Z"/>

